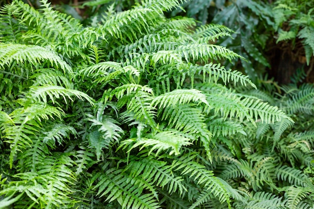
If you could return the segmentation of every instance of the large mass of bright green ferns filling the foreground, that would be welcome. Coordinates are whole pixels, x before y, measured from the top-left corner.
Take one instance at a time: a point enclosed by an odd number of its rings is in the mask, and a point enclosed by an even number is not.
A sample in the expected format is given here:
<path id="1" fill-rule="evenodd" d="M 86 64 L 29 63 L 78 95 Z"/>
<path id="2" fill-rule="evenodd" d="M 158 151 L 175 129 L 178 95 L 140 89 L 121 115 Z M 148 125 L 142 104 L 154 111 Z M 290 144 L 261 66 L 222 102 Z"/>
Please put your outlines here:
<path id="1" fill-rule="evenodd" d="M 232 30 L 164 16 L 183 2 L 111 3 L 2 7 L 0 208 L 312 208 L 304 74 L 254 84 Z"/>

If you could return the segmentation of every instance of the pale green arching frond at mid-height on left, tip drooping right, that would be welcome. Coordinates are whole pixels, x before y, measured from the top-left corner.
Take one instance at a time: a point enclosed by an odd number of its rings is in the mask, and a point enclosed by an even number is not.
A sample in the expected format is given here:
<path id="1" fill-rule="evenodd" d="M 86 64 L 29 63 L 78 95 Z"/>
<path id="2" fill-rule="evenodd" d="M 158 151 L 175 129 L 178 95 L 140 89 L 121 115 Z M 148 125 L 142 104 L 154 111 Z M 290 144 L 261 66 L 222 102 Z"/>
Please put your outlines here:
<path id="1" fill-rule="evenodd" d="M 28 93 L 26 93 L 26 105 L 32 102 L 41 102 L 45 104 L 49 102 L 49 99 L 54 104 L 55 99 L 63 98 L 64 102 L 67 104 L 68 100 L 73 102 L 72 96 L 76 96 L 80 100 L 86 99 L 91 105 L 94 105 L 93 98 L 89 97 L 87 94 L 74 90 L 67 89 L 62 86 L 54 85 L 43 85 L 43 86 L 31 86 Z"/>

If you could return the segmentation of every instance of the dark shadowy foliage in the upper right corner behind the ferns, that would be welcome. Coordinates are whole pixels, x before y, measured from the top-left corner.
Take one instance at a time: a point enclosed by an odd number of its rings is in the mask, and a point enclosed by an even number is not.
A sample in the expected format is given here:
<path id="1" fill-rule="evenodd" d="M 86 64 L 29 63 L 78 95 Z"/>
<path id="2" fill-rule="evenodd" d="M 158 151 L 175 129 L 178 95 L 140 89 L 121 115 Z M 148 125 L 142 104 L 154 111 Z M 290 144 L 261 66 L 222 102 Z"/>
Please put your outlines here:
<path id="1" fill-rule="evenodd" d="M 314 81 L 313 1 L 192 0 L 182 7 L 188 17 L 236 32 L 218 43 L 247 58 L 235 59 L 228 66 L 242 69 L 254 82 L 267 72 L 286 84 L 295 70 L 304 66 L 306 80 Z"/>

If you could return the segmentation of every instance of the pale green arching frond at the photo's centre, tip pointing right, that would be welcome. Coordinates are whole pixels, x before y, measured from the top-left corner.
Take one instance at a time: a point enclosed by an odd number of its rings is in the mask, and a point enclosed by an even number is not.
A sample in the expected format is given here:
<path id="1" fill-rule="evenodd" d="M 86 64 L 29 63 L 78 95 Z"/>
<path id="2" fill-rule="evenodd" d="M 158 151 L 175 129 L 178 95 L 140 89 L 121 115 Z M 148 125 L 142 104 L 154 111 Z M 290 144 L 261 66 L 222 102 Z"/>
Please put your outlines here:
<path id="1" fill-rule="evenodd" d="M 187 103 L 204 103 L 208 105 L 206 95 L 197 89 L 178 89 L 155 97 L 151 101 L 154 107 L 159 105 L 159 108 L 167 108 L 169 106 L 175 107 L 176 105 Z"/>

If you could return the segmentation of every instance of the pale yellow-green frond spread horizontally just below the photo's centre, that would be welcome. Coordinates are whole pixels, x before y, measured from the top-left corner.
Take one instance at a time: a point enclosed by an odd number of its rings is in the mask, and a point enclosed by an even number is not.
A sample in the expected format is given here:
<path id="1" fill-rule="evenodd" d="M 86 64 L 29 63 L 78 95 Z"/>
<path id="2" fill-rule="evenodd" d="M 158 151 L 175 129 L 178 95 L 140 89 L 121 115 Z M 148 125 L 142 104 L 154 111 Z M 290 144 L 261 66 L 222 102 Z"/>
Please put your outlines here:
<path id="1" fill-rule="evenodd" d="M 120 146 L 128 147 L 129 144 L 133 146 L 128 150 L 141 146 L 139 150 L 144 147 L 152 146 L 148 152 L 148 155 L 155 150 L 155 156 L 157 156 L 162 150 L 170 149 L 169 155 L 179 155 L 181 153 L 181 147 L 192 144 L 191 139 L 184 137 L 179 131 L 163 131 L 157 134 L 148 134 L 141 138 L 132 138 L 121 142 Z"/>

